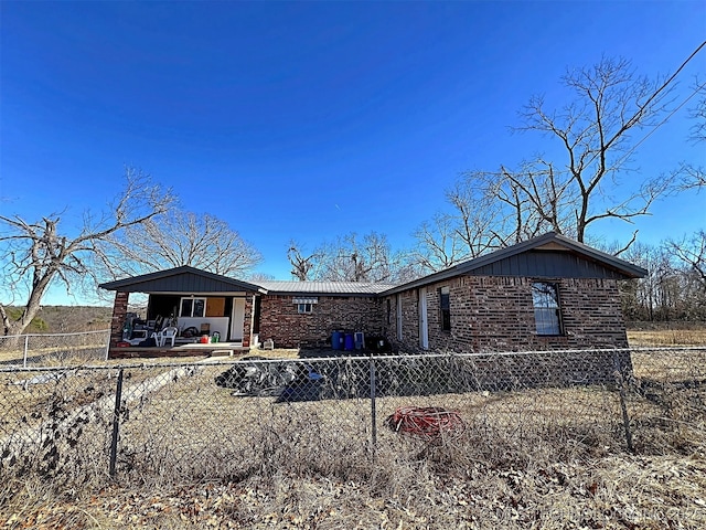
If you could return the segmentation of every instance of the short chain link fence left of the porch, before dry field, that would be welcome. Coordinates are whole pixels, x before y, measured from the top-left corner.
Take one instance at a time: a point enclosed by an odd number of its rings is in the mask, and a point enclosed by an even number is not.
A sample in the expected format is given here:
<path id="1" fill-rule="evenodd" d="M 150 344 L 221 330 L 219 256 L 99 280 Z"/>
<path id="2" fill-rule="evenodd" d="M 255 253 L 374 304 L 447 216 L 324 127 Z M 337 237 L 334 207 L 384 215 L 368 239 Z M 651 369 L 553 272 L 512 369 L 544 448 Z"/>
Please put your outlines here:
<path id="1" fill-rule="evenodd" d="M 110 330 L 0 336 L 0 365 L 82 364 L 107 359 Z"/>

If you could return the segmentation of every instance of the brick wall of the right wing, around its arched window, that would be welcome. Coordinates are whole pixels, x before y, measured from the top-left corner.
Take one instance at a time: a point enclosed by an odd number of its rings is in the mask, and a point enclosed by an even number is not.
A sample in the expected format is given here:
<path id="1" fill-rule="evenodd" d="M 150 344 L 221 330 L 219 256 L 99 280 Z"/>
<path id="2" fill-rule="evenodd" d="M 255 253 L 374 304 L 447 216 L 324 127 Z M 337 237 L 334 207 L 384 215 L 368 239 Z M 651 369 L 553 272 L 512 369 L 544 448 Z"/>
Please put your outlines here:
<path id="1" fill-rule="evenodd" d="M 565 335 L 537 336 L 532 284 L 559 286 Z M 439 289 L 450 288 L 451 330 L 440 325 Z M 386 303 L 385 303 L 386 304 Z M 391 297 L 394 308 L 396 297 Z M 403 338 L 396 338 L 396 310 L 387 336 L 398 348 L 419 348 L 418 290 L 403 293 Z M 427 286 L 429 349 L 456 352 L 518 351 L 578 348 L 624 348 L 625 325 L 618 282 L 597 278 L 520 278 L 460 276 Z"/>

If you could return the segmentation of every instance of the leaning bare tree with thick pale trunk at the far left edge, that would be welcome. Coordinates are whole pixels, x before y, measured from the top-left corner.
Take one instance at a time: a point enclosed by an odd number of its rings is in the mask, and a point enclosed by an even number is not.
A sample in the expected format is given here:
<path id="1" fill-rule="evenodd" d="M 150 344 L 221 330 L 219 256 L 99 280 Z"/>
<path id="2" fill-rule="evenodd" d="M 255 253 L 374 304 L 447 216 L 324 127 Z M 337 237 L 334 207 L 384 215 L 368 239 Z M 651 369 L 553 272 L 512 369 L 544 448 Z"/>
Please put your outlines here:
<path id="1" fill-rule="evenodd" d="M 20 215 L 0 215 L 0 255 L 6 289 L 13 294 L 26 292 L 26 299 L 21 303 L 22 314 L 17 320 L 8 316 L 8 303 L 0 303 L 4 335 L 24 331 L 53 283 L 61 282 L 69 289 L 72 279 L 93 275 L 92 257 L 101 242 L 126 229 L 145 225 L 172 205 L 171 192 L 152 184 L 141 172 L 128 169 L 126 180 L 125 190 L 110 205 L 110 211 L 98 216 L 85 213 L 81 232 L 75 237 L 60 232 L 61 213 L 38 222 L 28 222 Z"/>

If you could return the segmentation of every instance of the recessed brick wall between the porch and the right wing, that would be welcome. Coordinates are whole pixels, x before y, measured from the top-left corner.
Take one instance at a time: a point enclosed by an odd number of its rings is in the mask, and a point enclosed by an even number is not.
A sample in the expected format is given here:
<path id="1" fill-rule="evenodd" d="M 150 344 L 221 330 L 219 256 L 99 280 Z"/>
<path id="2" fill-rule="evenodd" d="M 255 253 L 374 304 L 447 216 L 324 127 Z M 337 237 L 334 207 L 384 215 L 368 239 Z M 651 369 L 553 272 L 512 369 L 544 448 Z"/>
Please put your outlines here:
<path id="1" fill-rule="evenodd" d="M 293 298 L 318 298 L 313 311 L 297 312 Z M 263 295 L 259 340 L 276 348 L 331 346 L 333 331 L 382 333 L 381 300 L 362 296 Z"/>

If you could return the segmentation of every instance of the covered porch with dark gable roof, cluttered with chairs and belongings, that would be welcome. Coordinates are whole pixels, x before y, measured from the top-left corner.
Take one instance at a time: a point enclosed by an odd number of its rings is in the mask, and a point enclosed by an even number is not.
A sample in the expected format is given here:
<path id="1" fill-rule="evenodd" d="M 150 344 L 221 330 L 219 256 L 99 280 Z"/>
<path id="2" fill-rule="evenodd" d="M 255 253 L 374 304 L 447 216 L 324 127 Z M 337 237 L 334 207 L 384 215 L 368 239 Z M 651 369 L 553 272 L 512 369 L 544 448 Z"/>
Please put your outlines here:
<path id="1" fill-rule="evenodd" d="M 247 351 L 257 332 L 259 295 L 265 293 L 257 285 L 189 266 L 100 287 L 116 292 L 110 358 Z M 132 293 L 148 295 L 145 314 L 128 310 Z M 162 340 L 156 343 L 156 336 Z"/>

